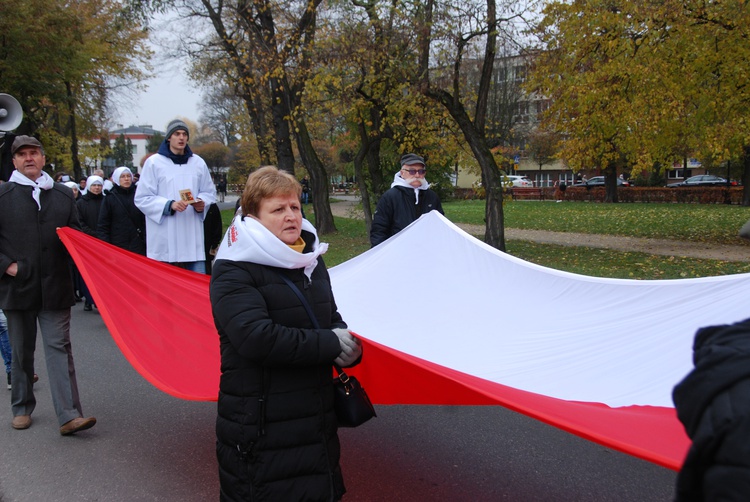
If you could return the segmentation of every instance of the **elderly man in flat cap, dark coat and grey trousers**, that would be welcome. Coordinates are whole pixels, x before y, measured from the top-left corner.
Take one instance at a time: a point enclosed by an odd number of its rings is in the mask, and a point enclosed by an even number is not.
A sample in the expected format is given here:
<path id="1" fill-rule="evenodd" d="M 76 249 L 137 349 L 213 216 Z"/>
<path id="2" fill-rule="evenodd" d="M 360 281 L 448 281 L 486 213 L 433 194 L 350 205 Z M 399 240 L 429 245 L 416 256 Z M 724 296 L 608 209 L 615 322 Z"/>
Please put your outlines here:
<path id="1" fill-rule="evenodd" d="M 75 304 L 68 254 L 58 227 L 80 230 L 73 192 L 42 171 L 41 143 L 18 136 L 11 146 L 16 170 L 0 185 L 0 308 L 8 318 L 13 353 L 11 404 L 14 429 L 28 429 L 36 406 L 33 390 L 37 321 L 44 340 L 52 401 L 60 434 L 88 429 L 78 397 L 70 345 Z"/>

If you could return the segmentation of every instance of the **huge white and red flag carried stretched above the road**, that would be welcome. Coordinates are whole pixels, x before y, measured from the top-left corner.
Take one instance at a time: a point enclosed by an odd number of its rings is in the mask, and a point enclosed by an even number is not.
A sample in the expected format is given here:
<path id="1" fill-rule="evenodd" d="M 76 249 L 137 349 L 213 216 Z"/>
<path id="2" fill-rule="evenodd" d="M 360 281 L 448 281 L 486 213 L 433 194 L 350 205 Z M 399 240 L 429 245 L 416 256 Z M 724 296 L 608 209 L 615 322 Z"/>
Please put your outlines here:
<path id="1" fill-rule="evenodd" d="M 209 278 L 59 233 L 133 367 L 175 397 L 216 400 Z M 434 211 L 330 272 L 365 346 L 352 373 L 374 403 L 501 405 L 675 470 L 689 440 L 671 392 L 692 369 L 695 332 L 749 317 L 750 274 L 576 275 L 502 253 Z"/>

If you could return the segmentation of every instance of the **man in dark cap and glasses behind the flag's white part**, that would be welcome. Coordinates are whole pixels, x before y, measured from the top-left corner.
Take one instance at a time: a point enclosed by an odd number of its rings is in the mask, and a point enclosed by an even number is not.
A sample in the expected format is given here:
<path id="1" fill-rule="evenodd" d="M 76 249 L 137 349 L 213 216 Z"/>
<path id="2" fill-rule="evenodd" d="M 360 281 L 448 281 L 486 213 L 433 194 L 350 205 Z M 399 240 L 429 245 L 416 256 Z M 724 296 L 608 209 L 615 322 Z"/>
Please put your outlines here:
<path id="1" fill-rule="evenodd" d="M 401 157 L 401 169 L 393 177 L 391 188 L 380 197 L 372 217 L 372 247 L 396 235 L 425 213 L 445 214 L 440 199 L 425 180 L 426 172 L 424 158 L 414 153 Z"/>

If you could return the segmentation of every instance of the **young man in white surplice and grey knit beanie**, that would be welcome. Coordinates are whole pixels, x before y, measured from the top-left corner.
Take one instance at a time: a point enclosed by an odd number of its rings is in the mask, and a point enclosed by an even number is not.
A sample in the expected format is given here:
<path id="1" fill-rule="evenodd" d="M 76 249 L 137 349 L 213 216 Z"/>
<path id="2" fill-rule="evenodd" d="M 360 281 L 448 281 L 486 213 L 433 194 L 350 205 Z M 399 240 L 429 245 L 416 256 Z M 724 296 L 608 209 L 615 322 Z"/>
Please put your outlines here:
<path id="1" fill-rule="evenodd" d="M 189 138 L 185 122 L 169 123 L 159 151 L 143 166 L 135 205 L 146 215 L 146 256 L 205 274 L 203 220 L 216 186 Z"/>

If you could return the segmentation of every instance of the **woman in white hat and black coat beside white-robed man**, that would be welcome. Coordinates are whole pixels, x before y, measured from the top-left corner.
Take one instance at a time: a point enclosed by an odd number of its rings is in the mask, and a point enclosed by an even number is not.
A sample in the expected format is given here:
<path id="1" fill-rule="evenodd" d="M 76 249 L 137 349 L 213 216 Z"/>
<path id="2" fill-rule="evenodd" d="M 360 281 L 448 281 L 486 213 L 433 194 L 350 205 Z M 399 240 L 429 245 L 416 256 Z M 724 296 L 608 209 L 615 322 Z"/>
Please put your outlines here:
<path id="1" fill-rule="evenodd" d="M 146 256 L 146 217 L 135 207 L 133 173 L 127 167 L 118 167 L 112 173 L 112 181 L 112 189 L 102 204 L 97 235 L 105 242 Z"/>

